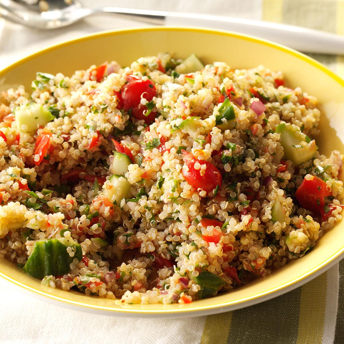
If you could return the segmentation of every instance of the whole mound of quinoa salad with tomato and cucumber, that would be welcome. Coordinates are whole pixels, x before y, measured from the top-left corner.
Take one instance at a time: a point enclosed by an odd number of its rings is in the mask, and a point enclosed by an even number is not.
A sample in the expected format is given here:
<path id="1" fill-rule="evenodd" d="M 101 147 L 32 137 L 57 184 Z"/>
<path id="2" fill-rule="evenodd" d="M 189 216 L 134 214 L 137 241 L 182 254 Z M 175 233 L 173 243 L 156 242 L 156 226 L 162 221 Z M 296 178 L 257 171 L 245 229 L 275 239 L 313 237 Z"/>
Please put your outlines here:
<path id="1" fill-rule="evenodd" d="M 47 72 L 0 95 L 0 257 L 46 286 L 190 303 L 341 221 L 343 155 L 282 72 L 167 53 Z"/>

